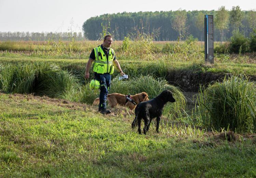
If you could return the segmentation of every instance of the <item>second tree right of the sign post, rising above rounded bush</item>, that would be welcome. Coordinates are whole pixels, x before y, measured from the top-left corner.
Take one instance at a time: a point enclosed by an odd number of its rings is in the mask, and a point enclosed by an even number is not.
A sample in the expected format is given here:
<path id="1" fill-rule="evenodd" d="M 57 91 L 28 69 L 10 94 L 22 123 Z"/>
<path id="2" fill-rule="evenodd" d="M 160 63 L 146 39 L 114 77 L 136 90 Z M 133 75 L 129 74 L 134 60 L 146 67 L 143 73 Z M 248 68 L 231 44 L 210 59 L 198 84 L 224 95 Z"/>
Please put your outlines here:
<path id="1" fill-rule="evenodd" d="M 234 31 L 239 31 L 239 27 L 243 26 L 242 20 L 244 18 L 244 13 L 241 11 L 239 6 L 233 6 L 230 11 L 230 24 Z"/>

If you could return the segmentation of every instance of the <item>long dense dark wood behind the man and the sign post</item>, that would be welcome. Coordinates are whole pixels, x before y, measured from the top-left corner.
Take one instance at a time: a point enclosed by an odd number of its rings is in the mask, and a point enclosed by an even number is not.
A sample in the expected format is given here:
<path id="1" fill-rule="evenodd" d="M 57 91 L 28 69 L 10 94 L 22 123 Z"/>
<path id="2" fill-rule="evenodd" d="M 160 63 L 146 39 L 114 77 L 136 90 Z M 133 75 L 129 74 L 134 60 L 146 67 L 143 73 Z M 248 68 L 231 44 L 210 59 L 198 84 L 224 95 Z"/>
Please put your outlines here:
<path id="1" fill-rule="evenodd" d="M 83 33 L 89 40 L 102 38 L 103 33 L 113 35 L 115 40 L 139 34 L 154 36 L 155 40 L 170 41 L 193 35 L 204 40 L 204 15 L 214 17 L 214 40 L 228 40 L 234 31 L 248 37 L 256 28 L 256 12 L 242 11 L 239 6 L 217 11 L 168 11 L 104 14 L 91 17 L 83 24 Z"/>

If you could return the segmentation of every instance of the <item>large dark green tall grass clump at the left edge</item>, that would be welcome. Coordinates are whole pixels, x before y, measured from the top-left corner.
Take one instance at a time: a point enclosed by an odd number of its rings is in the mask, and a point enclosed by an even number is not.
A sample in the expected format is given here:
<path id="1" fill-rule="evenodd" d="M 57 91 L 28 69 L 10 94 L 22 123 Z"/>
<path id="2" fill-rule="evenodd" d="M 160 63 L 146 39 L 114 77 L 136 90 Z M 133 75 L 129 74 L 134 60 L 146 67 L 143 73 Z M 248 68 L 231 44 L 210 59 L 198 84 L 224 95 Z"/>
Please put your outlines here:
<path id="1" fill-rule="evenodd" d="M 49 63 L 6 65 L 0 68 L 0 90 L 6 93 L 36 93 L 61 97 L 75 92 L 77 79 Z"/>

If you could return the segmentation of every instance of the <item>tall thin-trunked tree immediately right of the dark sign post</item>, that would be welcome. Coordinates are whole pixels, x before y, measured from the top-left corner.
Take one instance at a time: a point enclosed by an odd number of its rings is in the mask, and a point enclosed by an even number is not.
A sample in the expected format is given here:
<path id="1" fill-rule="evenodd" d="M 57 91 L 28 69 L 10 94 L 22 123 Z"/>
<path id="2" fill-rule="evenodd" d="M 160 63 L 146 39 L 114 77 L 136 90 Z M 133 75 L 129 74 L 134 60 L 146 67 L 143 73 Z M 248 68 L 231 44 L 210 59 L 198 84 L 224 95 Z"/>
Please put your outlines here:
<path id="1" fill-rule="evenodd" d="M 225 6 L 219 7 L 215 16 L 215 26 L 221 32 L 221 42 L 223 41 L 224 30 L 228 29 L 228 18 L 229 13 L 225 9 Z"/>

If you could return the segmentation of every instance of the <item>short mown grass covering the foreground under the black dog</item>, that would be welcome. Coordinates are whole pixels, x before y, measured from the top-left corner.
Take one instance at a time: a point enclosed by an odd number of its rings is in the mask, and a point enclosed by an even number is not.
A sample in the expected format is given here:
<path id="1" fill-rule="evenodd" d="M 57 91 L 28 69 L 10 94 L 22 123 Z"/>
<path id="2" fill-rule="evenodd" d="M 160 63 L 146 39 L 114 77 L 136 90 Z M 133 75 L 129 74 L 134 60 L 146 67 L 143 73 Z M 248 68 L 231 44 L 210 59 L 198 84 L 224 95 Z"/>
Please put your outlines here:
<path id="1" fill-rule="evenodd" d="M 255 177 L 256 139 L 160 122 L 131 129 L 133 112 L 0 94 L 0 177 Z M 154 124 L 154 123 L 152 123 Z"/>

